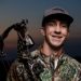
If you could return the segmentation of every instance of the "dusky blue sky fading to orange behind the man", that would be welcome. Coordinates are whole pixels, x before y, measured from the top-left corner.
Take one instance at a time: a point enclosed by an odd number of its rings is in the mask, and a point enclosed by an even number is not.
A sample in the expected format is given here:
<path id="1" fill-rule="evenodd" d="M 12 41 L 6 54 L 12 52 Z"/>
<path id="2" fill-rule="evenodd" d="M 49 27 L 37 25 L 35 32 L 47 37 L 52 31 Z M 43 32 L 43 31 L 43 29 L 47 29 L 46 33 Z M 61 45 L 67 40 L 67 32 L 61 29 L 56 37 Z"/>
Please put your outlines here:
<path id="1" fill-rule="evenodd" d="M 81 0 L 0 0 L 0 35 L 11 25 L 28 18 L 30 36 L 39 44 L 42 36 L 39 32 L 43 12 L 53 6 L 60 6 L 70 13 L 73 23 L 70 27 L 70 38 L 66 48 L 70 53 L 81 56 Z M 38 33 L 38 36 L 37 36 Z M 16 46 L 17 36 L 14 30 L 5 39 L 10 50 Z"/>

